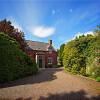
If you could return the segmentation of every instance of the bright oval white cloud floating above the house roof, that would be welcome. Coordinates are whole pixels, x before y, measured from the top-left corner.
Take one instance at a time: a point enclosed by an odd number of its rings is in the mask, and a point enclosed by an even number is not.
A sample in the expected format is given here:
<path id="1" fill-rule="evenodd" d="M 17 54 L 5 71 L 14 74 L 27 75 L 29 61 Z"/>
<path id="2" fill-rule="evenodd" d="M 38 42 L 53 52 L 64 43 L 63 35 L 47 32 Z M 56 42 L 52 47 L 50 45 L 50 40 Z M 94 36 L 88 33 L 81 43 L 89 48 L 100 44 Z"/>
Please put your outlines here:
<path id="1" fill-rule="evenodd" d="M 35 35 L 37 37 L 45 38 L 45 37 L 53 35 L 55 32 L 55 28 L 38 26 L 38 27 L 32 28 L 31 32 L 33 35 Z"/>

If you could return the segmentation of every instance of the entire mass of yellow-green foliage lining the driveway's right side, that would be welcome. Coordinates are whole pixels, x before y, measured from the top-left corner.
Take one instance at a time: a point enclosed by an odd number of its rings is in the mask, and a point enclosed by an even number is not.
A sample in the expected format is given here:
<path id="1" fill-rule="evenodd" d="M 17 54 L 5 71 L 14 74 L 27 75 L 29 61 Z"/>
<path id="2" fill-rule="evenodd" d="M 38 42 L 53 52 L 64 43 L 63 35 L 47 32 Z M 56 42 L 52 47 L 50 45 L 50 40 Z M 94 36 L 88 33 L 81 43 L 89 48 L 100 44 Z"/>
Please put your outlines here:
<path id="1" fill-rule="evenodd" d="M 64 47 L 65 70 L 100 80 L 100 26 L 94 35 L 81 35 Z"/>

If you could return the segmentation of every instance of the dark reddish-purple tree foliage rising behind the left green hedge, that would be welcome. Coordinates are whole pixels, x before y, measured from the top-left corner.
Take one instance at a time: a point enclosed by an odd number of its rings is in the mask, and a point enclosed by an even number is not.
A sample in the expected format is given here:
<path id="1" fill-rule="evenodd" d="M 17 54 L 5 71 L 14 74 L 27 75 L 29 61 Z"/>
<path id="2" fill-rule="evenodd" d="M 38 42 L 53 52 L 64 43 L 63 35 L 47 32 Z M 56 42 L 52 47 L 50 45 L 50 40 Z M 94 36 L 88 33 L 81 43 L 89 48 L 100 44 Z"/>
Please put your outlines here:
<path id="1" fill-rule="evenodd" d="M 10 21 L 7 21 L 6 19 L 0 21 L 0 32 L 4 32 L 5 34 L 8 34 L 10 37 L 16 39 L 16 41 L 20 44 L 20 48 L 23 51 L 25 51 L 27 44 L 24 39 L 24 33 L 18 31 L 18 29 L 15 29 Z"/>

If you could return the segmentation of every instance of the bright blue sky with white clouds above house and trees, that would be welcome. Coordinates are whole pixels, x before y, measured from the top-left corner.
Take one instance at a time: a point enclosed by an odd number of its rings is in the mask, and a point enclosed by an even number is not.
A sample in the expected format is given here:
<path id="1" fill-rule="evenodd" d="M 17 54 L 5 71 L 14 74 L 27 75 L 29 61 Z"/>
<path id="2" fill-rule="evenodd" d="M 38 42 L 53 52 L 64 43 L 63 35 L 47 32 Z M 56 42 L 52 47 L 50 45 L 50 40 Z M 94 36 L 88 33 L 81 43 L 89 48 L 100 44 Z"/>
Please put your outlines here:
<path id="1" fill-rule="evenodd" d="M 52 39 L 56 48 L 100 25 L 100 0 L 0 0 L 0 12 L 27 40 Z"/>

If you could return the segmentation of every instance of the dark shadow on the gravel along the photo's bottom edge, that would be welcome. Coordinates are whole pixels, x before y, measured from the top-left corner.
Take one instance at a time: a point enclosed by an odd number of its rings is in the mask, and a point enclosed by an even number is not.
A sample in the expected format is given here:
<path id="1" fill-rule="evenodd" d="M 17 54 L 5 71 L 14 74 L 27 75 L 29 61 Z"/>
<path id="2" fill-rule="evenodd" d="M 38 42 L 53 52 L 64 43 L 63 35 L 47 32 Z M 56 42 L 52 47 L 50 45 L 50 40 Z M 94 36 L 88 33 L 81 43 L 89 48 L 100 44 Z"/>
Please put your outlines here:
<path id="1" fill-rule="evenodd" d="M 10 100 L 9 98 L 5 98 L 2 100 Z M 34 97 L 18 97 L 14 100 L 35 100 Z M 69 92 L 69 93 L 59 93 L 59 94 L 48 94 L 48 96 L 40 96 L 38 100 L 100 100 L 100 95 L 98 96 L 88 96 L 88 94 L 84 90 L 80 90 L 77 92 Z"/>

